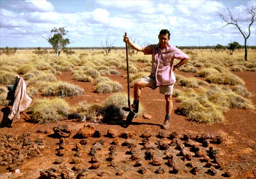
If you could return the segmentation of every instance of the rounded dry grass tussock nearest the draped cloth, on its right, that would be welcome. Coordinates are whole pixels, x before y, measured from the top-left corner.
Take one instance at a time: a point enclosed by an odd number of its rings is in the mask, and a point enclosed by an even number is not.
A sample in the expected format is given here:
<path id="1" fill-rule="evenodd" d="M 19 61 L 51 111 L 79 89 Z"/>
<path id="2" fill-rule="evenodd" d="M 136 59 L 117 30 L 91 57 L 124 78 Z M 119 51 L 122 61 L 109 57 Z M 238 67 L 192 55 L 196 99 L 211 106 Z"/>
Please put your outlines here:
<path id="1" fill-rule="evenodd" d="M 69 115 L 69 105 L 63 99 L 36 99 L 30 111 L 32 120 L 37 123 L 51 123 L 67 119 Z"/>

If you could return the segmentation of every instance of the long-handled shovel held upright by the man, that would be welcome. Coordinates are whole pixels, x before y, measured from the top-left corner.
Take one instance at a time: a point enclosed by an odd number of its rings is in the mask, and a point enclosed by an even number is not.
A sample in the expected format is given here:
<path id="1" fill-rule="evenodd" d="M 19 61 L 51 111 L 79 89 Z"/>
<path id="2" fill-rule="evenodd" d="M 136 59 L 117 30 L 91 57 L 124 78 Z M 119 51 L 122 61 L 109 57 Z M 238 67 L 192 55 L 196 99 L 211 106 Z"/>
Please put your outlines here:
<path id="1" fill-rule="evenodd" d="M 126 32 L 124 33 L 124 36 L 126 37 Z M 125 127 L 128 127 L 135 116 L 135 113 L 131 110 L 131 102 L 130 102 L 130 80 L 129 80 L 129 59 L 128 59 L 128 50 L 127 50 L 127 41 L 125 41 L 125 50 L 126 50 L 126 66 L 127 66 L 127 93 L 128 93 L 128 107 L 130 108 L 130 112 L 126 118 Z"/>

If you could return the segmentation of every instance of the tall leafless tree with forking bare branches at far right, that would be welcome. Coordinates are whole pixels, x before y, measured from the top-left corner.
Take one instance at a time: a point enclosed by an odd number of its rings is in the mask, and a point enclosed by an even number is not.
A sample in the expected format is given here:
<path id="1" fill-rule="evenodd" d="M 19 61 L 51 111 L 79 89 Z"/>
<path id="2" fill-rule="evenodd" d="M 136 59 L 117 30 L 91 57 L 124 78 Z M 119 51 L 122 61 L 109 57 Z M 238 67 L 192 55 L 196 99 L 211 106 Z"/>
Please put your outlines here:
<path id="1" fill-rule="evenodd" d="M 250 34 L 251 34 L 250 27 L 251 27 L 251 25 L 253 24 L 253 21 L 254 21 L 255 9 L 256 9 L 256 8 L 251 7 L 251 9 L 250 9 L 250 11 L 249 11 L 249 13 L 251 14 L 251 22 L 250 22 L 250 24 L 249 24 L 249 26 L 248 26 L 248 31 L 249 31 L 248 35 L 247 35 L 245 32 L 243 32 L 243 31 L 241 30 L 241 28 L 240 28 L 239 25 L 238 25 L 238 19 L 234 19 L 234 18 L 233 18 L 233 15 L 232 15 L 232 13 L 229 11 L 228 8 L 227 8 L 228 13 L 229 13 L 228 16 L 229 16 L 229 18 L 230 18 L 229 21 L 224 17 L 223 14 L 218 13 L 218 15 L 227 23 L 225 26 L 227 26 L 227 25 L 229 25 L 229 24 L 232 24 L 232 25 L 236 26 L 236 27 L 238 28 L 238 30 L 241 32 L 241 34 L 243 35 L 243 37 L 244 37 L 244 49 L 245 49 L 245 54 L 244 54 L 244 59 L 245 59 L 245 61 L 247 61 L 247 44 L 246 44 L 246 42 L 247 42 L 247 39 L 249 38 L 249 36 L 250 36 Z M 223 26 L 223 27 L 225 27 L 225 26 Z M 222 28 L 223 28 L 223 27 L 222 27 Z"/>

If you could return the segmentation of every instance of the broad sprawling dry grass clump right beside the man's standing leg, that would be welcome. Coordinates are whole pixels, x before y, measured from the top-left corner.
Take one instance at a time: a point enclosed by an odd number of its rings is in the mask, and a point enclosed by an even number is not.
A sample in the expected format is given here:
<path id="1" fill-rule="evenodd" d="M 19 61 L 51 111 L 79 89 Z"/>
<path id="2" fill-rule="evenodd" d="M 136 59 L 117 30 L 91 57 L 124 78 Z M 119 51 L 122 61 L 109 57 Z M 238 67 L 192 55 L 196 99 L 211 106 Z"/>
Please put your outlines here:
<path id="1" fill-rule="evenodd" d="M 207 88 L 200 87 L 197 90 L 176 89 L 174 96 L 176 101 L 181 102 L 176 113 L 196 122 L 221 122 L 224 120 L 223 113 L 229 108 L 254 108 L 248 99 L 232 92 L 228 87 L 216 84 L 211 84 Z"/>

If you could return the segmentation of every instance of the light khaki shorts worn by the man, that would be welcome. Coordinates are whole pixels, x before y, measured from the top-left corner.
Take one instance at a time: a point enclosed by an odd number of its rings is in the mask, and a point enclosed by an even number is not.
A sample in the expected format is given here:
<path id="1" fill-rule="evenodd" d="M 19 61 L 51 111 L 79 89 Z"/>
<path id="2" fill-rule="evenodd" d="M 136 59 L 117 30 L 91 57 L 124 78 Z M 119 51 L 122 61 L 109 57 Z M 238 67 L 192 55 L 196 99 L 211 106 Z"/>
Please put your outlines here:
<path id="1" fill-rule="evenodd" d="M 144 81 L 150 88 L 156 89 L 158 86 L 156 84 L 156 75 L 151 74 L 150 76 L 146 76 L 141 79 Z M 172 95 L 174 89 L 174 84 L 162 85 L 159 86 L 159 93 L 164 95 Z"/>

